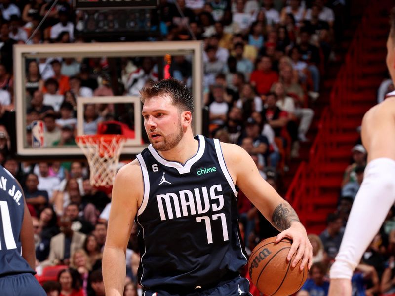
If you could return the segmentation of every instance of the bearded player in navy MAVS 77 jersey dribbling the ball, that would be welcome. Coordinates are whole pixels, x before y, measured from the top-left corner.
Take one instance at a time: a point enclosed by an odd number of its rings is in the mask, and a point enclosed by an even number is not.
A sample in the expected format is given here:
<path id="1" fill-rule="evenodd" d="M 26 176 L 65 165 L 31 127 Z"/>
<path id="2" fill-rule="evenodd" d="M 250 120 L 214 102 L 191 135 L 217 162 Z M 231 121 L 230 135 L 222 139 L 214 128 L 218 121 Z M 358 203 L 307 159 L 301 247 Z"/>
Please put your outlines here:
<path id="1" fill-rule="evenodd" d="M 141 91 L 151 145 L 116 176 L 103 255 L 107 296 L 121 296 L 125 250 L 136 217 L 145 296 L 249 295 L 238 270 L 247 263 L 237 222 L 237 187 L 293 240 L 301 269 L 312 261 L 306 230 L 292 207 L 239 146 L 193 136 L 193 99 L 167 79 Z"/>

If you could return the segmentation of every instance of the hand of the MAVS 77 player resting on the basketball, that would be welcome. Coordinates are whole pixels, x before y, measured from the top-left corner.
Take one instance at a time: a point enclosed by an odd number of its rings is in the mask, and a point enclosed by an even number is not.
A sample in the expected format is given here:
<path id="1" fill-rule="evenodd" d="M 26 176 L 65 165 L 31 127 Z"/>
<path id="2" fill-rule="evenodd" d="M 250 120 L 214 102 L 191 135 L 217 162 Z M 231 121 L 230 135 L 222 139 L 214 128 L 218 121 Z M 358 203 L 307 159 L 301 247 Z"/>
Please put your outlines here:
<path id="1" fill-rule="evenodd" d="M 300 222 L 292 222 L 291 227 L 277 235 L 276 243 L 280 242 L 283 238 L 292 240 L 291 249 L 289 249 L 287 256 L 287 260 L 290 261 L 296 253 L 291 263 L 292 267 L 295 267 L 299 260 L 302 259 L 300 270 L 303 270 L 306 264 L 308 264 L 307 268 L 310 269 L 313 259 L 313 247 L 307 237 L 305 227 Z"/>

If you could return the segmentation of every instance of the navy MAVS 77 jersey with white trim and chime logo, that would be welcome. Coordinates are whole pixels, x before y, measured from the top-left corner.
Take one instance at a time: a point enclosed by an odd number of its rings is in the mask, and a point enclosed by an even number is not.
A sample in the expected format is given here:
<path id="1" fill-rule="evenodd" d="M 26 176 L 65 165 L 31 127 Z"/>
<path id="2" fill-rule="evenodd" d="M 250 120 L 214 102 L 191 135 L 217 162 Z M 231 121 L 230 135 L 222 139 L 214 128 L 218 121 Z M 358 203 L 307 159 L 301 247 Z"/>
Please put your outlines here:
<path id="1" fill-rule="evenodd" d="M 237 190 L 217 139 L 196 136 L 184 165 L 150 145 L 137 156 L 144 179 L 138 210 L 139 282 L 147 288 L 210 286 L 247 263 L 237 221 Z"/>

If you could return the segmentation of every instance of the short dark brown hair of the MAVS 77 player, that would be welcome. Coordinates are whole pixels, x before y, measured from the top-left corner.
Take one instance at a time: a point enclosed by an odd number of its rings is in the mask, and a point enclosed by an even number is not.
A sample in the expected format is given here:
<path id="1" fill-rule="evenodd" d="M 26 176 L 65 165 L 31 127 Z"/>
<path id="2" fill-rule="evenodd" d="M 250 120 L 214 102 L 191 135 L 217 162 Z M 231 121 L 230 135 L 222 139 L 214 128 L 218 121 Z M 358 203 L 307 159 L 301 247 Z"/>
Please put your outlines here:
<path id="1" fill-rule="evenodd" d="M 140 100 L 143 104 L 146 99 L 159 95 L 170 96 L 174 105 L 180 106 L 184 111 L 194 113 L 192 94 L 181 81 L 174 78 L 164 79 L 140 90 Z"/>

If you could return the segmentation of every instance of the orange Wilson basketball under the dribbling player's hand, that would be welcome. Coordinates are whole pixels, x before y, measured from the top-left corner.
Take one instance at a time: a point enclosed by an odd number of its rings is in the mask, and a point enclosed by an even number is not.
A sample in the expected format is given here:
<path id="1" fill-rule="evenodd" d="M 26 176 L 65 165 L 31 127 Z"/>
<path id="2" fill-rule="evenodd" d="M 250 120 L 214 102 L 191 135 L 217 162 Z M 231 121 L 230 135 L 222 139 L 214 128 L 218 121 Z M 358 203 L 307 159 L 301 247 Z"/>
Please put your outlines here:
<path id="1" fill-rule="evenodd" d="M 286 296 L 298 291 L 308 276 L 307 264 L 300 271 L 300 263 L 292 268 L 295 257 L 287 261 L 291 240 L 283 239 L 275 244 L 276 237 L 261 241 L 252 251 L 248 260 L 248 272 L 252 283 L 260 292 L 268 296 Z"/>

